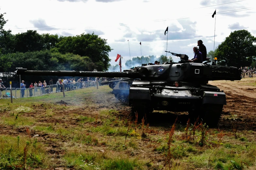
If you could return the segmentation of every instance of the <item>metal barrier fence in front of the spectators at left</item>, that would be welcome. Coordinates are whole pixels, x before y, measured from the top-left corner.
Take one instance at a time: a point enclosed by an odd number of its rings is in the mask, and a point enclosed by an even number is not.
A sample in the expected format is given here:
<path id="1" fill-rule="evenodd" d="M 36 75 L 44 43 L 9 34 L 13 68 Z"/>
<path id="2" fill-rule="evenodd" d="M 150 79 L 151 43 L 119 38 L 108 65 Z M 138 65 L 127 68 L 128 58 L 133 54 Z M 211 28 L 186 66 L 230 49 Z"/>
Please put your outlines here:
<path id="1" fill-rule="evenodd" d="M 98 81 L 100 83 L 100 81 Z M 81 88 L 93 87 L 96 86 L 96 81 L 87 81 L 87 82 L 76 82 L 64 84 L 64 90 L 77 90 Z M 47 85 L 44 87 L 35 87 L 35 88 L 12 88 L 12 97 L 13 98 L 27 98 L 27 97 L 36 97 L 42 96 L 50 93 L 59 93 L 62 92 L 62 85 Z M 0 99 L 10 98 L 10 88 L 0 88 Z"/>

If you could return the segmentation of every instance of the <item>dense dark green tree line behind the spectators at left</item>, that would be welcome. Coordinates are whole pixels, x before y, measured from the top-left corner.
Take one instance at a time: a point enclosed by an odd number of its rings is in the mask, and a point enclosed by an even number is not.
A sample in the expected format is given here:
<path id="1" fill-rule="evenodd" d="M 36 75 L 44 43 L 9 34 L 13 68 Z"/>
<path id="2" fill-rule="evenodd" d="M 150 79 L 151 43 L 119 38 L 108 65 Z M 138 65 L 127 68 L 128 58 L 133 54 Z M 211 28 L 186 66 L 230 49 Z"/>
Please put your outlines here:
<path id="1" fill-rule="evenodd" d="M 4 29 L 8 22 L 4 14 L 0 14 L 0 77 L 5 81 L 17 79 L 12 74 L 17 67 L 29 70 L 108 70 L 111 61 L 108 53 L 113 49 L 107 45 L 106 39 L 94 33 L 59 37 L 27 30 L 12 34 L 11 30 Z M 23 79 L 32 81 L 30 77 L 23 76 Z M 44 78 L 39 76 L 33 81 Z"/>

